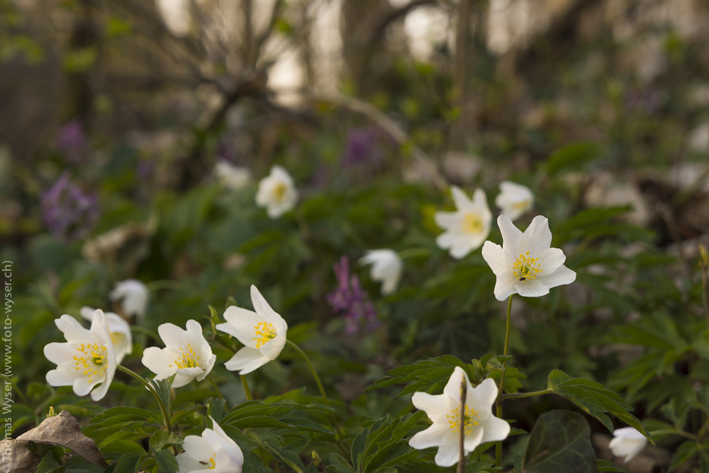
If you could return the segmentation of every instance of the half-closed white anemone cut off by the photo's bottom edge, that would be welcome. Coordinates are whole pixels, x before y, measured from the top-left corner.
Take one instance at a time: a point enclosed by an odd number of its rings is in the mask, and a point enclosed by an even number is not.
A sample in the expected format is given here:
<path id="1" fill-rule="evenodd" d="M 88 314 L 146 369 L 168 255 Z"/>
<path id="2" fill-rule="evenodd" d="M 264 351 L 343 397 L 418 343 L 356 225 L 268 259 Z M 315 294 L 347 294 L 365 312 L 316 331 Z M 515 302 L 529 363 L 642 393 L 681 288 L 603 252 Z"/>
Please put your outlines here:
<path id="1" fill-rule="evenodd" d="M 182 447 L 184 452 L 177 455 L 178 473 L 211 470 L 218 473 L 241 473 L 244 454 L 239 445 L 228 437 L 218 423 L 209 416 L 212 428 L 206 428 L 202 435 L 187 435 Z"/>

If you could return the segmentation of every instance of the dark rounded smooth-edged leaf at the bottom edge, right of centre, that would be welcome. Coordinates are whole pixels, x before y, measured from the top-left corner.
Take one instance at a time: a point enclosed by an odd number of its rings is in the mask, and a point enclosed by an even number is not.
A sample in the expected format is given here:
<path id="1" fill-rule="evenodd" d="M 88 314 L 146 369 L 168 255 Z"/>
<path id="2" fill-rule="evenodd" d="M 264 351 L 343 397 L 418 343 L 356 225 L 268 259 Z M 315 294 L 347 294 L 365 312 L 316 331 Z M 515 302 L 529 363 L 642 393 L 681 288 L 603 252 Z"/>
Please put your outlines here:
<path id="1" fill-rule="evenodd" d="M 586 419 L 571 411 L 543 413 L 532 428 L 522 459 L 523 473 L 596 473 Z"/>

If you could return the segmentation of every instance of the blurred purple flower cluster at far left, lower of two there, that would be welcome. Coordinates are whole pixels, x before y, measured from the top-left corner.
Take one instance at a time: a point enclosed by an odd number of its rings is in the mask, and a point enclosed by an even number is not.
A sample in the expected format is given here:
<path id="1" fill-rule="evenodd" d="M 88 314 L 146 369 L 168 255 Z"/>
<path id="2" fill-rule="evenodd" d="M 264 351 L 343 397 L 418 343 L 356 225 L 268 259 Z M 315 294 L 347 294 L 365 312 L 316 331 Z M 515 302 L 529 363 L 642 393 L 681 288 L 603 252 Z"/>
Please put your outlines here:
<path id="1" fill-rule="evenodd" d="M 84 194 L 65 171 L 42 196 L 43 220 L 55 238 L 67 242 L 82 238 L 99 218 L 96 194 Z"/>

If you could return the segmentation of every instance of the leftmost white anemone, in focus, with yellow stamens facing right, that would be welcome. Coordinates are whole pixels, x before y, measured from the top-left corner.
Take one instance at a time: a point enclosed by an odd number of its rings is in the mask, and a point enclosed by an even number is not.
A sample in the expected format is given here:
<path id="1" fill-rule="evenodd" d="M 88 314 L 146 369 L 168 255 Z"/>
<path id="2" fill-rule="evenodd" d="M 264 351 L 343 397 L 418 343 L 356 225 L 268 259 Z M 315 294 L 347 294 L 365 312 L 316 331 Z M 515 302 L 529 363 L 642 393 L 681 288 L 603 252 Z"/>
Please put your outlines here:
<path id="1" fill-rule="evenodd" d="M 72 316 L 57 318 L 54 322 L 67 342 L 48 343 L 44 353 L 47 360 L 57 365 L 47 373 L 51 386 L 73 386 L 77 396 L 91 392 L 91 399 L 99 401 L 106 396 L 116 374 L 116 354 L 104 312 L 97 309 L 93 319 L 91 329 L 86 330 Z M 94 389 L 97 384 L 101 386 Z"/>

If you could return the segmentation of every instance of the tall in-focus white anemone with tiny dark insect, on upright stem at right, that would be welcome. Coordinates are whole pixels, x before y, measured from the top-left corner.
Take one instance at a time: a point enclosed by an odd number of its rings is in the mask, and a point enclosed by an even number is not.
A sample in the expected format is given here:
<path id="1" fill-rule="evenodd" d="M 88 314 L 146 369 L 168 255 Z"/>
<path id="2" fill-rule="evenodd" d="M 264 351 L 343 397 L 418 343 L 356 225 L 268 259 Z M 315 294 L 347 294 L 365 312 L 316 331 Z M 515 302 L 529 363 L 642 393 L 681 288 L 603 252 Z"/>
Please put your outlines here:
<path id="1" fill-rule="evenodd" d="M 504 301 L 512 294 L 540 297 L 549 289 L 576 280 L 576 272 L 564 266 L 566 256 L 552 248 L 552 232 L 546 217 L 536 216 L 522 233 L 506 216 L 499 216 L 502 246 L 483 245 L 483 258 L 497 277 L 495 297 Z"/>

